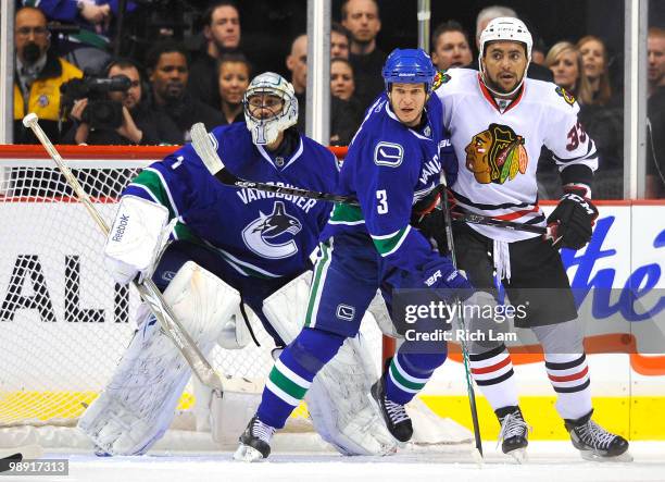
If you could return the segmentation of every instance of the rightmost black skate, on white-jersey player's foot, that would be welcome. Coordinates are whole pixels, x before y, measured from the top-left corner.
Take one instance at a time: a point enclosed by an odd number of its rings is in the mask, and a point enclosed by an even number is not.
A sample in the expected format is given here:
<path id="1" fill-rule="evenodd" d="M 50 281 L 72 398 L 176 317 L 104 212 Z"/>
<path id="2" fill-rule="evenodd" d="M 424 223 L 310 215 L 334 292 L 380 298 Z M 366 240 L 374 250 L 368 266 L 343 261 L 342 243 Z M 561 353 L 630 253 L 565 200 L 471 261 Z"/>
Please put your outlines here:
<path id="1" fill-rule="evenodd" d="M 607 432 L 593 420 L 593 410 L 577 420 L 565 420 L 570 442 L 585 460 L 632 461 L 628 441 Z"/>

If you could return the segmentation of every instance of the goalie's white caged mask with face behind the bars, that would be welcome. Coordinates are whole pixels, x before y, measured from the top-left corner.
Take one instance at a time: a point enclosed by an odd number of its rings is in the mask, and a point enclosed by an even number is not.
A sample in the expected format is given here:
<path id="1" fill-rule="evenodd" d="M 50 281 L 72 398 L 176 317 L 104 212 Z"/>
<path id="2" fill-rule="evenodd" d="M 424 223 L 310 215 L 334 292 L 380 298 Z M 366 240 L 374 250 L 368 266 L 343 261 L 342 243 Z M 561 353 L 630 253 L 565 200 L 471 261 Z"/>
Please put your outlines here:
<path id="1" fill-rule="evenodd" d="M 298 99 L 293 86 L 273 72 L 265 72 L 252 79 L 242 104 L 252 141 L 260 146 L 274 143 L 280 132 L 298 122 Z"/>

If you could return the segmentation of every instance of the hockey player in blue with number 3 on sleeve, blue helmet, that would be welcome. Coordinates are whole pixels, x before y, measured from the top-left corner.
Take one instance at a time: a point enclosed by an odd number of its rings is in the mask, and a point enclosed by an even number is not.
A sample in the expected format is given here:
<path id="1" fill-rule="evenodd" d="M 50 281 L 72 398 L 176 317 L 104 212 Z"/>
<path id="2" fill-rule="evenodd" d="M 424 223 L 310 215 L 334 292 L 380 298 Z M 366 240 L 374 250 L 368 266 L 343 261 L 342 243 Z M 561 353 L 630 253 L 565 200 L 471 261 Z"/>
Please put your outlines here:
<path id="1" fill-rule="evenodd" d="M 472 288 L 451 260 L 410 224 L 414 207 L 430 203 L 442 169 L 455 172 L 441 102 L 430 96 L 435 69 L 423 50 L 398 49 L 388 57 L 382 76 L 386 92 L 367 110 L 337 189 L 355 197 L 360 208 L 336 205 L 330 215 L 322 234 L 305 326 L 275 363 L 236 459 L 269 455 L 273 433 L 284 427 L 344 339 L 357 333 L 377 289 L 390 306 L 394 288 L 447 288 L 450 296 Z M 413 350 L 414 343 L 402 344 L 372 388 L 388 429 L 401 442 L 413 433 L 404 405 L 447 357 L 444 342 L 429 353 Z"/>

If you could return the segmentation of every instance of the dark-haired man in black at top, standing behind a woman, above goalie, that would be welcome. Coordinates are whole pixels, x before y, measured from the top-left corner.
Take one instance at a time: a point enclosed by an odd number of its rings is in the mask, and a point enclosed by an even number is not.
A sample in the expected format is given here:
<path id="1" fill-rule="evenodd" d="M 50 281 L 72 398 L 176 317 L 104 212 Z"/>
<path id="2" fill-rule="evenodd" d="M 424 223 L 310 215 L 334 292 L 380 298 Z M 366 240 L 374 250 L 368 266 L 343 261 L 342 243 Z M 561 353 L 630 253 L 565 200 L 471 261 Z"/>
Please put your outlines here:
<path id="1" fill-rule="evenodd" d="M 208 106 L 219 106 L 217 62 L 240 46 L 240 14 L 231 0 L 213 3 L 203 14 L 204 51 L 191 64 L 189 92 Z"/>

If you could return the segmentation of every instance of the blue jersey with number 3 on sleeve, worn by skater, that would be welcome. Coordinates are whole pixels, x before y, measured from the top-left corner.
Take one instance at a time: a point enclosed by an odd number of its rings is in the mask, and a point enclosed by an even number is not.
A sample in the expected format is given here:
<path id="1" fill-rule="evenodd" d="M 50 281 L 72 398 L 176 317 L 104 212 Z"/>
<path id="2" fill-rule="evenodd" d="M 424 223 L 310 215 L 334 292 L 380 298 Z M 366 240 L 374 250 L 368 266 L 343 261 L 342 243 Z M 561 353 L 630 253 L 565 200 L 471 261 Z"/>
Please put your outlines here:
<path id="1" fill-rule="evenodd" d="M 342 164 L 338 193 L 359 199 L 361 207 L 336 205 L 322 239 L 338 234 L 369 236 L 391 265 L 411 272 L 438 257 L 429 242 L 410 226 L 413 205 L 455 178 L 457 164 L 442 125 L 442 106 L 432 95 L 425 122 L 409 128 L 400 123 L 382 94 L 367 110 Z"/>

